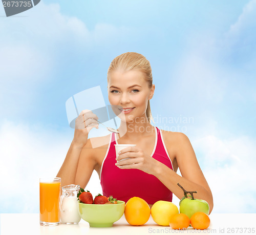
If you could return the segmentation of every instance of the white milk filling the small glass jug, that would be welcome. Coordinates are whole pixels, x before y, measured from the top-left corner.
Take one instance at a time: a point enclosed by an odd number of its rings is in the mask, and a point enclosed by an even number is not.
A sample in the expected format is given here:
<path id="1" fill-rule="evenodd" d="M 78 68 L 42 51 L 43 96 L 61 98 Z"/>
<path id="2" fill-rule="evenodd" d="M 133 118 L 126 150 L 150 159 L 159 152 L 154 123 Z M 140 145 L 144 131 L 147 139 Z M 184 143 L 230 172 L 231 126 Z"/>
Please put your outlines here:
<path id="1" fill-rule="evenodd" d="M 60 205 L 60 221 L 62 223 L 79 223 L 77 197 L 63 197 Z"/>

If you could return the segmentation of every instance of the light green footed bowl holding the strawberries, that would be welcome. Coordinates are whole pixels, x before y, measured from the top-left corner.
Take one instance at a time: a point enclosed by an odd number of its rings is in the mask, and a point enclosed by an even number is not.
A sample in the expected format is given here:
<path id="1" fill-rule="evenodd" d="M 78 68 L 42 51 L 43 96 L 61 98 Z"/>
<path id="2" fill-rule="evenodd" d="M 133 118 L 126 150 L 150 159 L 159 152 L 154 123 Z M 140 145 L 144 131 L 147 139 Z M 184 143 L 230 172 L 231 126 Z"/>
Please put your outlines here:
<path id="1" fill-rule="evenodd" d="M 117 201 L 117 204 L 79 204 L 81 218 L 90 224 L 90 227 L 112 227 L 124 213 L 124 201 Z"/>

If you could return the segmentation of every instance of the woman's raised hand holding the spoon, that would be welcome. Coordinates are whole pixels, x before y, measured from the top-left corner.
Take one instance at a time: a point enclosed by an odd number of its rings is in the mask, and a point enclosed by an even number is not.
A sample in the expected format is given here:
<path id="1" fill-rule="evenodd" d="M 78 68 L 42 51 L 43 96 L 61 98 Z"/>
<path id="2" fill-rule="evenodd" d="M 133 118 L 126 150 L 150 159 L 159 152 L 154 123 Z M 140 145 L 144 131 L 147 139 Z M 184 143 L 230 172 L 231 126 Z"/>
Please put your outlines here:
<path id="1" fill-rule="evenodd" d="M 99 128 L 97 115 L 91 110 L 83 110 L 76 118 L 75 133 L 73 138 L 73 144 L 79 147 L 83 147 L 87 143 L 89 132 L 95 128 Z"/>

